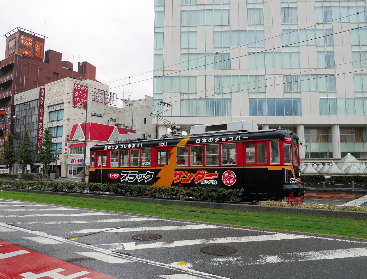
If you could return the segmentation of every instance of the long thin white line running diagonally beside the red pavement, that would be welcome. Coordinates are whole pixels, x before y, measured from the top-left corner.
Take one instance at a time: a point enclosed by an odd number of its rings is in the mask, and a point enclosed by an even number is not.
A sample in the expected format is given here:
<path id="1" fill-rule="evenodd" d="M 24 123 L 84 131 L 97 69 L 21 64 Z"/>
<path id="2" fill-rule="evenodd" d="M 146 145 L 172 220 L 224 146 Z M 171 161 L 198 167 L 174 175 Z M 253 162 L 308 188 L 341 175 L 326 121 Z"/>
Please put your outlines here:
<path id="1" fill-rule="evenodd" d="M 0 227 L 9 228 L 10 225 L 0 223 Z M 149 260 L 145 260 L 145 259 L 142 259 L 142 258 L 123 255 L 123 254 L 116 253 L 116 252 L 113 252 L 113 251 L 108 251 L 108 250 L 105 250 L 105 249 L 102 249 L 102 248 L 99 248 L 99 247 L 96 247 L 96 246 L 92 246 L 92 245 L 88 245 L 88 244 L 84 244 L 84 243 L 75 242 L 75 241 L 72 241 L 72 240 L 69 240 L 69 239 L 61 238 L 59 236 L 48 235 L 47 233 L 44 233 L 44 232 L 30 231 L 28 229 L 23 229 L 23 228 L 17 228 L 17 230 L 22 231 L 22 232 L 28 232 L 28 233 L 31 233 L 33 235 L 38 235 L 38 236 L 43 236 L 43 237 L 46 237 L 46 238 L 55 239 L 55 240 L 61 241 L 63 243 L 83 247 L 84 249 L 90 249 L 90 250 L 98 251 L 98 252 L 104 253 L 106 255 L 113 256 L 113 257 L 123 258 L 123 259 L 131 260 L 131 261 L 134 261 L 134 262 L 141 262 L 143 264 L 150 264 L 150 265 L 154 265 L 156 267 L 168 268 L 168 269 L 171 269 L 171 270 L 174 270 L 174 271 L 177 271 L 177 272 L 185 272 L 185 273 L 191 274 L 193 276 L 197 275 L 197 276 L 201 276 L 201 277 L 204 277 L 204 278 L 211 278 L 211 279 L 230 279 L 228 277 L 222 277 L 222 276 L 218 276 L 218 275 L 214 275 L 214 274 L 200 272 L 200 271 L 196 271 L 196 270 L 193 270 L 193 269 L 183 269 L 181 267 L 175 267 L 175 266 L 172 266 L 170 264 L 164 264 L 162 262 L 149 261 Z"/>

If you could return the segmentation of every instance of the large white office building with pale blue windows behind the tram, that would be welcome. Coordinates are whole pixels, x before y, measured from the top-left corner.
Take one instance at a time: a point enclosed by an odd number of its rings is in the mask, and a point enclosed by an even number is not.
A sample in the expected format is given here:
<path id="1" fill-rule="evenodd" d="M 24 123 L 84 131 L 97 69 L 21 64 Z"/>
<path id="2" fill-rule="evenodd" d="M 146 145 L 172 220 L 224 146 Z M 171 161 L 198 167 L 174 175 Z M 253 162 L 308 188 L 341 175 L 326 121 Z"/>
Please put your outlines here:
<path id="1" fill-rule="evenodd" d="M 366 21 L 365 0 L 155 0 L 153 101 L 186 131 L 249 120 L 366 158 Z"/>

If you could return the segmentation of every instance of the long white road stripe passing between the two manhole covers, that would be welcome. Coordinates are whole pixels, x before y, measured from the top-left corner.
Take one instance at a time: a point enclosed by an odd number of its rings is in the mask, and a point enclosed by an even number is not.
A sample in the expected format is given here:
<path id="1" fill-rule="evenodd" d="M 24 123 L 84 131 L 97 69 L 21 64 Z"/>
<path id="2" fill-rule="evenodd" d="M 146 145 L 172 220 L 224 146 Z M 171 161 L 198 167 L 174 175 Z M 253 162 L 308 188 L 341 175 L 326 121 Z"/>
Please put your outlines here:
<path id="1" fill-rule="evenodd" d="M 178 240 L 178 241 L 172 241 L 172 242 L 155 242 L 155 243 L 138 244 L 138 245 L 136 244 L 136 242 L 127 242 L 127 243 L 122 243 L 122 244 L 125 250 L 137 250 L 137 249 L 188 246 L 188 245 L 198 245 L 198 244 L 253 242 L 253 241 L 266 241 L 266 240 L 298 239 L 298 238 L 310 238 L 310 236 L 279 233 L 279 234 L 273 234 L 273 235 L 239 236 L 239 237 L 230 237 L 230 238 Z"/>

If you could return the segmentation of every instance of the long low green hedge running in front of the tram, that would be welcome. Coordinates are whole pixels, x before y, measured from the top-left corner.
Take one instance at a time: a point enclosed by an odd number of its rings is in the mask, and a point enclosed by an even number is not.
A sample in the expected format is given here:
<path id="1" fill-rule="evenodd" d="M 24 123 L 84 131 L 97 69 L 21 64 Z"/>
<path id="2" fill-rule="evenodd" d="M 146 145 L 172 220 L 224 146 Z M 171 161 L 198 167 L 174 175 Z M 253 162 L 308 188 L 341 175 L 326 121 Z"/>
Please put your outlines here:
<path id="1" fill-rule="evenodd" d="M 146 197 L 156 199 L 179 199 L 183 195 L 185 199 L 211 202 L 233 202 L 241 201 L 243 190 L 191 187 L 189 189 L 177 186 L 150 186 L 130 184 L 100 184 L 83 182 L 58 182 L 58 181 L 21 181 L 0 180 L 3 187 L 32 189 L 39 191 L 90 193 L 110 195 L 123 195 L 133 197 Z"/>

